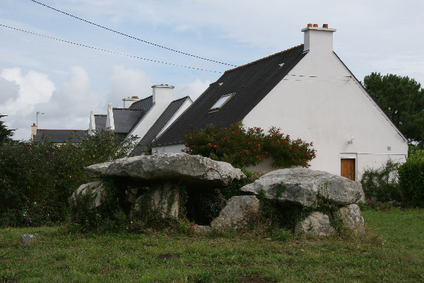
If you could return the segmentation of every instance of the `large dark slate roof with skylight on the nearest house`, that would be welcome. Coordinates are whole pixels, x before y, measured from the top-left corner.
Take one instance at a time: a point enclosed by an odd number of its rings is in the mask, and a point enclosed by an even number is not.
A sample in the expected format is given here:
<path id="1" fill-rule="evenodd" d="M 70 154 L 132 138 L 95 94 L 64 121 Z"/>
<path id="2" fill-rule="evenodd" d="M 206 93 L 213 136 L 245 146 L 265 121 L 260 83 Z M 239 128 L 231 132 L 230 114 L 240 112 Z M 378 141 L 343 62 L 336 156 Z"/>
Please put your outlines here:
<path id="1" fill-rule="evenodd" d="M 303 45 L 278 52 L 269 57 L 225 71 L 223 76 L 206 89 L 179 118 L 158 138 L 155 146 L 181 144 L 185 130 L 191 125 L 202 129 L 204 125 L 224 127 L 240 122 L 279 83 L 288 72 L 305 57 Z M 283 64 L 280 67 L 280 64 Z M 220 86 L 220 83 L 223 83 Z M 221 96 L 235 93 L 223 108 L 209 109 Z"/>

